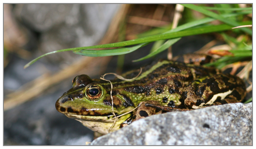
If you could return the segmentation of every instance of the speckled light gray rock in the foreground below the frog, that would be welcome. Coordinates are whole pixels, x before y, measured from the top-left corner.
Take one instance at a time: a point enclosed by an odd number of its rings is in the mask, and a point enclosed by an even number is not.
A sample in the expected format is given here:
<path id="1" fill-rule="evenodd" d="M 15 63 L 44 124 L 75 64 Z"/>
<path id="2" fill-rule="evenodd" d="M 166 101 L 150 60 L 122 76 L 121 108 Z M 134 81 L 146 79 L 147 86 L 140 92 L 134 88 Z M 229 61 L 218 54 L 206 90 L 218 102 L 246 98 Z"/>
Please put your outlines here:
<path id="1" fill-rule="evenodd" d="M 154 115 L 90 145 L 252 145 L 252 103 Z"/>

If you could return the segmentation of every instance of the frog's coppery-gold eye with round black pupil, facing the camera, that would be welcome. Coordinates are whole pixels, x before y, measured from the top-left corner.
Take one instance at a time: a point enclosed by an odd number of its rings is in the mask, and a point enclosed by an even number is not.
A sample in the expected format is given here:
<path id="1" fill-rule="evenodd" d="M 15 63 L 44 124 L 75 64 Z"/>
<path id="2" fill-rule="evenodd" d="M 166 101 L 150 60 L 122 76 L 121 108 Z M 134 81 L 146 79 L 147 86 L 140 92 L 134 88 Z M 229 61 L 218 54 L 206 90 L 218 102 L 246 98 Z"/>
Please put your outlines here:
<path id="1" fill-rule="evenodd" d="M 85 94 L 87 97 L 89 97 L 89 99 L 96 100 L 96 99 L 100 98 L 100 96 L 102 95 L 102 89 L 98 85 L 90 85 L 86 89 Z"/>

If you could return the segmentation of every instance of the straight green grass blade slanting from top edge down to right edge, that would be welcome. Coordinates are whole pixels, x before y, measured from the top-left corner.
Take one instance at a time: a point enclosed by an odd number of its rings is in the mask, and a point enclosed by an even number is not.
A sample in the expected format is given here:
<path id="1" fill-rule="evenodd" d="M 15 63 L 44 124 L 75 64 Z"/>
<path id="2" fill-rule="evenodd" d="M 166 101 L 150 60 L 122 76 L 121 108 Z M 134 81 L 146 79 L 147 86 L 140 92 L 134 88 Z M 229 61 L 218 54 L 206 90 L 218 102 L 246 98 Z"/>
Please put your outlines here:
<path id="1" fill-rule="evenodd" d="M 209 10 L 206 10 L 204 9 L 203 7 L 200 7 L 200 6 L 196 6 L 196 5 L 193 5 L 193 4 L 181 4 L 187 8 L 190 8 L 190 9 L 193 9 L 195 11 L 198 11 L 202 14 L 205 14 L 207 16 L 210 16 L 212 18 L 215 18 L 217 20 L 220 20 L 228 25 L 231 25 L 232 27 L 237 27 L 237 26 L 241 26 L 241 24 L 239 24 L 238 22 L 236 21 L 233 21 L 233 20 L 230 20 L 230 19 L 227 19 L 227 18 L 224 18 L 222 17 L 221 15 L 218 15 L 214 12 L 211 12 Z M 250 30 L 249 28 L 240 28 L 241 30 L 243 30 L 244 32 L 248 33 L 249 35 L 252 35 L 252 30 Z"/>

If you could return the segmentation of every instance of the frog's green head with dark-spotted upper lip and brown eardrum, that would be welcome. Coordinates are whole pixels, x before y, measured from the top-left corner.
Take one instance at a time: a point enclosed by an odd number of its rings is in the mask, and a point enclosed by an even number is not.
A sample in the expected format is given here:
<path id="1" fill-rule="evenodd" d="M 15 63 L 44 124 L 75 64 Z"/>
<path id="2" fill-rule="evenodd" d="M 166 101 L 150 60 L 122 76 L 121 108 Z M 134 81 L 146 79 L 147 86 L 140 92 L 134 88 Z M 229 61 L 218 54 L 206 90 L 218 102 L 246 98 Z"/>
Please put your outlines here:
<path id="1" fill-rule="evenodd" d="M 113 121 L 109 83 L 80 75 L 73 79 L 72 84 L 73 87 L 56 101 L 55 106 L 59 112 L 80 120 Z M 112 96 L 113 110 L 116 115 L 134 108 L 133 103 L 127 102 L 127 97 L 120 92 L 120 88 L 113 89 Z"/>

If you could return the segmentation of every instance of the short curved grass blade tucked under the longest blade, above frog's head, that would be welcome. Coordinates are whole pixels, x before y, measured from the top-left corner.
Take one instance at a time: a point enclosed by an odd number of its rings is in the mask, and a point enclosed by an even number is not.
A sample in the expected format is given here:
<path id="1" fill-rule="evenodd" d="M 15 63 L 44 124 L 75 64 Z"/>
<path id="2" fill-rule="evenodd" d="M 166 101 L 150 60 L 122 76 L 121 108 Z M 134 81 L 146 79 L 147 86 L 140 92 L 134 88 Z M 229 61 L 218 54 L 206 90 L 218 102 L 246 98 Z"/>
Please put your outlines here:
<path id="1" fill-rule="evenodd" d="M 110 50 L 80 50 L 80 51 L 73 51 L 76 54 L 83 55 L 83 56 L 91 56 L 91 57 L 97 57 L 97 56 L 112 56 L 112 55 L 121 55 L 126 53 L 131 53 L 138 48 L 141 48 L 148 43 L 142 43 L 135 45 L 133 47 L 128 48 L 119 48 L 119 49 L 110 49 Z"/>

